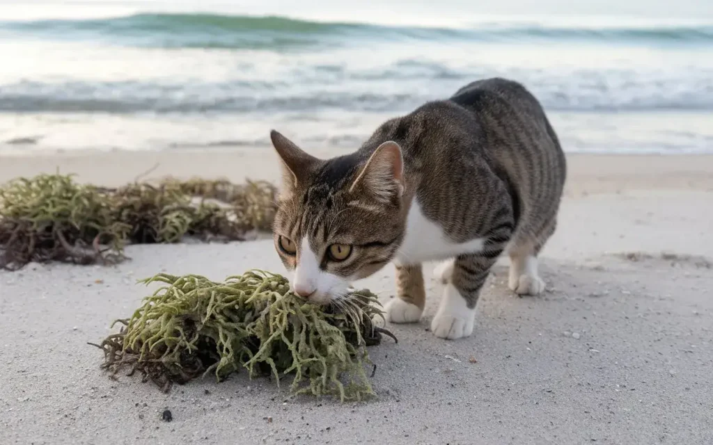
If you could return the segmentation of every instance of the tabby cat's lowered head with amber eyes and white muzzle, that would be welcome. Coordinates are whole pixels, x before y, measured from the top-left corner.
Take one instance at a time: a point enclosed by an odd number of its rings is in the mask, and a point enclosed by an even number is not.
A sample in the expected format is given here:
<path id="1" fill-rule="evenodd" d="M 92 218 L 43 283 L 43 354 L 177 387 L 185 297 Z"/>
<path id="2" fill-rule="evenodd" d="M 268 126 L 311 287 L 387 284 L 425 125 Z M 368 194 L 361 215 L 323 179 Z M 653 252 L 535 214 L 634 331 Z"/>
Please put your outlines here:
<path id="1" fill-rule="evenodd" d="M 404 162 L 396 142 L 369 157 L 317 159 L 270 132 L 282 162 L 273 232 L 292 290 L 326 304 L 391 261 L 404 233 Z"/>

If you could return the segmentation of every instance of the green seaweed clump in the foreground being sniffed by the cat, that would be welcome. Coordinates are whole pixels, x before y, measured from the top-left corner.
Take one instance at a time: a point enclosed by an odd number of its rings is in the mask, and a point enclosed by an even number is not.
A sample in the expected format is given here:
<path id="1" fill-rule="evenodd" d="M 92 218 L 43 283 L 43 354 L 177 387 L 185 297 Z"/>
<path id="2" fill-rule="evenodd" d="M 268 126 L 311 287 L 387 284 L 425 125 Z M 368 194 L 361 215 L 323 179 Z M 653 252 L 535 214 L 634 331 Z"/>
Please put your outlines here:
<path id="1" fill-rule="evenodd" d="M 272 375 L 278 387 L 291 375 L 295 395 L 344 401 L 374 394 L 365 372 L 371 364 L 366 346 L 378 344 L 382 333 L 393 335 L 373 324 L 383 312 L 368 290 L 323 306 L 305 302 L 284 277 L 266 271 L 222 283 L 163 273 L 143 280 L 153 282 L 165 286 L 131 318 L 118 320 L 119 333 L 97 345 L 104 352 L 102 367 L 113 376 L 128 367 L 129 375 L 140 371 L 144 381 L 168 391 L 173 383 L 209 373 L 221 381 L 245 368 L 251 378 Z"/>

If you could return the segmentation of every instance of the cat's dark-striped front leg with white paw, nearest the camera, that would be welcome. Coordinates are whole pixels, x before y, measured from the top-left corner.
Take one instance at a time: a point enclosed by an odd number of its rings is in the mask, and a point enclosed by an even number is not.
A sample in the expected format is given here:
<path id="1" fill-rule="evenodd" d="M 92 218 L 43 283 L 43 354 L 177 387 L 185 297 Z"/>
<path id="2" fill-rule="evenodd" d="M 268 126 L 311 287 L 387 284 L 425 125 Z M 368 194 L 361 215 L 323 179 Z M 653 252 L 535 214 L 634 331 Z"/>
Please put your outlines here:
<path id="1" fill-rule="evenodd" d="M 453 271 L 443 290 L 443 298 L 431 321 L 431 331 L 436 337 L 456 340 L 473 333 L 478 297 L 498 258 L 493 254 L 461 255 L 453 262 Z"/>

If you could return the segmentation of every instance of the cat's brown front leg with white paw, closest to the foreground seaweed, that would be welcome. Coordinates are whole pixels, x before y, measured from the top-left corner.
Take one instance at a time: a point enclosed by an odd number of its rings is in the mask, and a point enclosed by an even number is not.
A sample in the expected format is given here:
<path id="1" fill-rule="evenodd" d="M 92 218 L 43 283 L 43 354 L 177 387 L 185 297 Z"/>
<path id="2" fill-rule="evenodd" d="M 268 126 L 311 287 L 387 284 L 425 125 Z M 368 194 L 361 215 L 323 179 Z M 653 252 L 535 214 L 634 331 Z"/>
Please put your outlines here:
<path id="1" fill-rule="evenodd" d="M 386 303 L 386 320 L 391 323 L 416 323 L 426 305 L 426 289 L 421 264 L 396 264 L 396 298 Z"/>

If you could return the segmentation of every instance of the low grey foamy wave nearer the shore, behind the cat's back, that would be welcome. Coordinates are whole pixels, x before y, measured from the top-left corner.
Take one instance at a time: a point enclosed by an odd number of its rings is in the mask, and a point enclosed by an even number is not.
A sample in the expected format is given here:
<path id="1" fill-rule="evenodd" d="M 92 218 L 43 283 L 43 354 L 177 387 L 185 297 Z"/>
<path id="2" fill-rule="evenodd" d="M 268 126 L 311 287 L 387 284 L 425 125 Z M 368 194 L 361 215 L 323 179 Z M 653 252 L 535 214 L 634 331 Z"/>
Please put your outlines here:
<path id="1" fill-rule="evenodd" d="M 359 78 L 361 74 L 354 73 Z M 439 75 L 438 71 L 436 74 Z M 445 78 L 438 83 L 416 80 L 416 85 L 431 84 L 429 89 L 403 88 L 386 92 L 380 83 L 369 90 L 341 90 L 317 87 L 244 81 L 225 83 L 151 83 L 122 82 L 20 82 L 0 85 L 0 112 L 103 112 L 109 114 L 156 113 L 200 114 L 228 113 L 272 115 L 275 113 L 317 113 L 324 110 L 346 112 L 409 112 L 429 101 L 448 98 L 464 83 L 462 76 Z M 472 79 L 471 79 L 472 80 Z M 392 80 L 386 79 L 392 82 Z M 655 79 L 637 85 L 610 85 L 581 76 L 580 82 L 523 82 L 548 110 L 558 111 L 645 111 L 713 110 L 713 80 L 690 80 L 689 88 L 672 78 Z M 366 86 L 369 86 L 366 85 Z M 300 86 L 300 85 L 298 85 Z M 317 88 L 317 89 L 315 89 Z"/>

